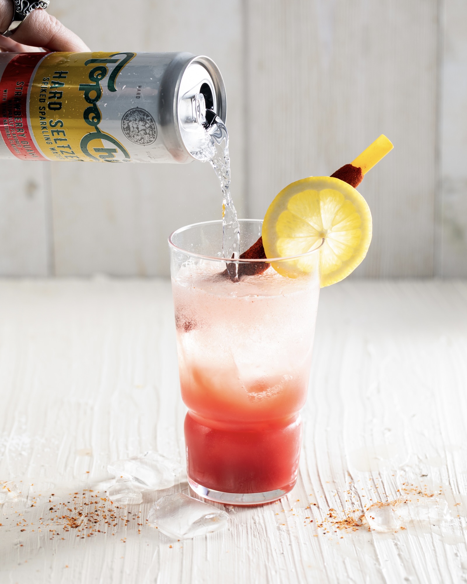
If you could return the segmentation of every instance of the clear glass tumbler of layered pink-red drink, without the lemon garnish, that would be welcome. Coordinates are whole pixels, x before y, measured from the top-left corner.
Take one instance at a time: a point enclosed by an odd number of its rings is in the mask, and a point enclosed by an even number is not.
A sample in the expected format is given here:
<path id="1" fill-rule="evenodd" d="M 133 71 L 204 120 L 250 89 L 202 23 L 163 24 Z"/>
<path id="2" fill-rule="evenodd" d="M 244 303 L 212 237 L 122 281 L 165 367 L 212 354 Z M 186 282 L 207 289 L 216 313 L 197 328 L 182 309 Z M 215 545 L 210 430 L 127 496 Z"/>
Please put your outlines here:
<path id="1" fill-rule="evenodd" d="M 261 235 L 262 221 L 239 223 L 245 251 Z M 170 235 L 169 247 L 180 388 L 189 410 L 189 484 L 198 495 L 231 505 L 278 499 L 297 481 L 319 249 L 295 258 L 227 261 L 222 221 L 183 227 Z M 279 272 L 297 262 L 305 271 L 281 276 L 271 262 Z M 257 273 L 262 266 L 266 271 Z"/>

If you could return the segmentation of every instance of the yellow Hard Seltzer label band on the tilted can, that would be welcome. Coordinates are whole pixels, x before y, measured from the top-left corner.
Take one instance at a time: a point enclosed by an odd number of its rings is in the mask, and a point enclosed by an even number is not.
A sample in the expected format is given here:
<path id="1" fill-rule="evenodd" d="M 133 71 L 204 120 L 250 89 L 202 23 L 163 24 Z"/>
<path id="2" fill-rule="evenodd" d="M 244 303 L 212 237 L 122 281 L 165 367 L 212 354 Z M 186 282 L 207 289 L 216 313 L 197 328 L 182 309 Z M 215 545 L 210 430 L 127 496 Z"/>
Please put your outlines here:
<path id="1" fill-rule="evenodd" d="M 131 155 L 120 141 L 102 130 L 102 111 L 116 103 L 112 98 L 116 97 L 117 77 L 134 56 L 51 53 L 44 57 L 29 100 L 30 124 L 44 156 L 62 161 L 130 161 Z M 113 107 L 107 112 L 111 110 Z"/>

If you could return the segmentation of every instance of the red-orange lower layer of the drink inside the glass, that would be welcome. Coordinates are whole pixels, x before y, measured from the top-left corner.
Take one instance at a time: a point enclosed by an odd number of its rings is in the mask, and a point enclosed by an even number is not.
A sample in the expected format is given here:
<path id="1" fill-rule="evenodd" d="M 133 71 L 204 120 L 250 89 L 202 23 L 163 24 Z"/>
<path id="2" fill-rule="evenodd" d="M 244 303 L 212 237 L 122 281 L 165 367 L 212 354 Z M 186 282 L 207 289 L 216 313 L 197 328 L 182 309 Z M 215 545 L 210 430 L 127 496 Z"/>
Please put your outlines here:
<path id="1" fill-rule="evenodd" d="M 220 380 L 209 373 L 196 367 L 180 370 L 183 401 L 191 410 L 184 424 L 190 479 L 227 493 L 290 490 L 297 480 L 298 412 L 308 375 L 270 378 L 269 384 L 262 380 L 236 391 L 225 382 L 212 383 Z M 276 394 L 257 397 L 278 386 Z"/>

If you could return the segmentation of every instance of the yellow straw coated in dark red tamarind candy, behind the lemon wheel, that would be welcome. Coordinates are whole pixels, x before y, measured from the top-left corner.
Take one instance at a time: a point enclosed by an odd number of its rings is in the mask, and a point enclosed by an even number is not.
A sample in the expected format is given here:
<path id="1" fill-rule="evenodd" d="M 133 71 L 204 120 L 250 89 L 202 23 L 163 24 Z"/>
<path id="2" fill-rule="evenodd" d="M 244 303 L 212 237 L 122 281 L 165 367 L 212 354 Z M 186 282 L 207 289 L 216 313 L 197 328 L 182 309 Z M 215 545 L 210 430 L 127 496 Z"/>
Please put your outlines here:
<path id="1" fill-rule="evenodd" d="M 351 164 L 344 164 L 339 170 L 334 172 L 331 176 L 343 180 L 348 185 L 353 186 L 354 189 L 363 180 L 365 174 L 373 168 L 382 158 L 391 152 L 393 149 L 392 142 L 381 134 L 368 148 L 357 156 Z M 260 237 L 250 248 L 243 252 L 240 259 L 266 259 L 266 253 L 263 248 L 263 238 Z M 238 266 L 238 276 L 253 276 L 262 274 L 269 268 L 270 264 L 266 262 L 258 263 L 240 263 Z"/>

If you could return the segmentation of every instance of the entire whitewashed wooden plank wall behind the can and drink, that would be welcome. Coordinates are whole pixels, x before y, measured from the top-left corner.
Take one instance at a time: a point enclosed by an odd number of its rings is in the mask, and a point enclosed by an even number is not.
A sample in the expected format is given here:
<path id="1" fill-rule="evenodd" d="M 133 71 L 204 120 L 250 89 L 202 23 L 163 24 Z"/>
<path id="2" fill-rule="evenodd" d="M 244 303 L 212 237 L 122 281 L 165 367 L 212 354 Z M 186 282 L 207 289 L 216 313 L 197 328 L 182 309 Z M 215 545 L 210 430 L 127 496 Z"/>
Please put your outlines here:
<path id="1" fill-rule="evenodd" d="M 99 26 L 92 0 L 50 11 L 97 50 L 124 42 L 218 62 L 242 215 L 261 216 L 285 184 L 332 172 L 385 132 L 396 148 L 360 187 L 374 241 L 356 275 L 467 275 L 464 0 L 134 0 L 131 18 L 115 0 Z M 4 275 L 168 274 L 169 232 L 219 216 L 208 165 L 37 166 L 25 170 L 34 204 L 12 192 L 14 168 L 0 161 Z"/>

